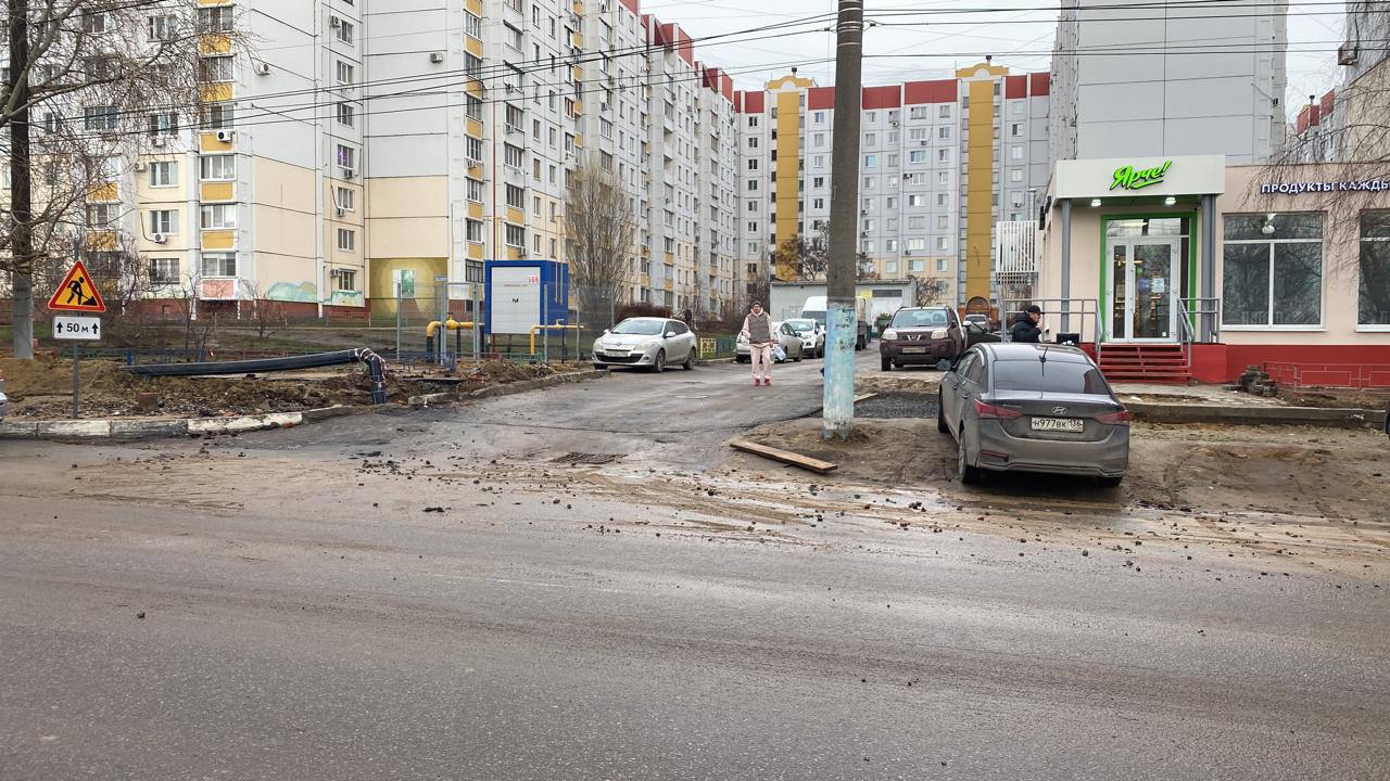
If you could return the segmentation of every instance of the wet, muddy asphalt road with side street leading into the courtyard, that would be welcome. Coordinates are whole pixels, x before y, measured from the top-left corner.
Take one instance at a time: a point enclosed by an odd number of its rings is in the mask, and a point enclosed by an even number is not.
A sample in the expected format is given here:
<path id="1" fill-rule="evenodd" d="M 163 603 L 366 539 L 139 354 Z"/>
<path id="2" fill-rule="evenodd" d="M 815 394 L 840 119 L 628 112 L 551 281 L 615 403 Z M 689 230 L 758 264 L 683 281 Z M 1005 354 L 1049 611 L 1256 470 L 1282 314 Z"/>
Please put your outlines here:
<path id="1" fill-rule="evenodd" d="M 6 443 L 0 778 L 1390 777 L 1390 585 L 626 495 L 817 368 Z"/>

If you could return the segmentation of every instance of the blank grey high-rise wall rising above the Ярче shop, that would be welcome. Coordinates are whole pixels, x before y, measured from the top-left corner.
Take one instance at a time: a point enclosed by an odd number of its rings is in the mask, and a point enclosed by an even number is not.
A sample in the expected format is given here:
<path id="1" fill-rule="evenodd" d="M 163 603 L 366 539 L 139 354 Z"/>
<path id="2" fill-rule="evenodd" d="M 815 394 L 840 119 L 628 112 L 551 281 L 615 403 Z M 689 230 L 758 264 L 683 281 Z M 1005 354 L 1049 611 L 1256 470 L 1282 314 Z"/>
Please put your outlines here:
<path id="1" fill-rule="evenodd" d="M 1269 160 L 1286 128 L 1287 7 L 1063 0 L 1052 54 L 1052 157 Z"/>

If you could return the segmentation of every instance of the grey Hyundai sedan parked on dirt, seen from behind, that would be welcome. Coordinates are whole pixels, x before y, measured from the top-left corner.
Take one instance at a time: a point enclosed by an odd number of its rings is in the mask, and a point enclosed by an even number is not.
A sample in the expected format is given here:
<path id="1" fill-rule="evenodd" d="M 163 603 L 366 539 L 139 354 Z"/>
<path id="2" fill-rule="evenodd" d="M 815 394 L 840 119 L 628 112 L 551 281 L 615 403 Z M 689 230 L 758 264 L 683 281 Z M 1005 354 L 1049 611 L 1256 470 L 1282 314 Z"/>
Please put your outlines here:
<path id="1" fill-rule="evenodd" d="M 1115 486 L 1129 470 L 1129 410 L 1076 347 L 977 345 L 941 377 L 937 393 L 937 429 L 956 439 L 960 482 L 1027 471 Z"/>

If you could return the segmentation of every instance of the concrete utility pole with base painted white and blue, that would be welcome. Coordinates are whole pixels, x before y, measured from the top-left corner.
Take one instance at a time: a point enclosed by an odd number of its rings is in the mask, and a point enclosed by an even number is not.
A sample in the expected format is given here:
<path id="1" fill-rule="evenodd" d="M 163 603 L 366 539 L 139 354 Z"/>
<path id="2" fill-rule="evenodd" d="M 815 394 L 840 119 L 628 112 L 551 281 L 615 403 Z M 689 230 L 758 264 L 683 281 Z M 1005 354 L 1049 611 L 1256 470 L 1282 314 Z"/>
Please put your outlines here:
<path id="1" fill-rule="evenodd" d="M 855 277 L 859 252 L 859 103 L 863 0 L 840 0 L 835 24 L 835 126 L 830 172 L 830 268 L 821 438 L 845 439 L 855 422 Z"/>

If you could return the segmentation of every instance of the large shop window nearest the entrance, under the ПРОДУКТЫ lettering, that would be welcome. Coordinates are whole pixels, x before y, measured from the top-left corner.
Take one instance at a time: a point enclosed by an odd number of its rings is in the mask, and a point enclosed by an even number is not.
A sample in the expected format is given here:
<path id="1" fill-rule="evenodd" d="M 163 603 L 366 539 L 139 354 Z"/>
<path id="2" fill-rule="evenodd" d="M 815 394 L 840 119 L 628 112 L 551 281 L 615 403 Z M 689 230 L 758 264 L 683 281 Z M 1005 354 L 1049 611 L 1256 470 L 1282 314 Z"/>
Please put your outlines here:
<path id="1" fill-rule="evenodd" d="M 1226 214 L 1222 222 L 1222 322 L 1322 324 L 1322 214 Z"/>

